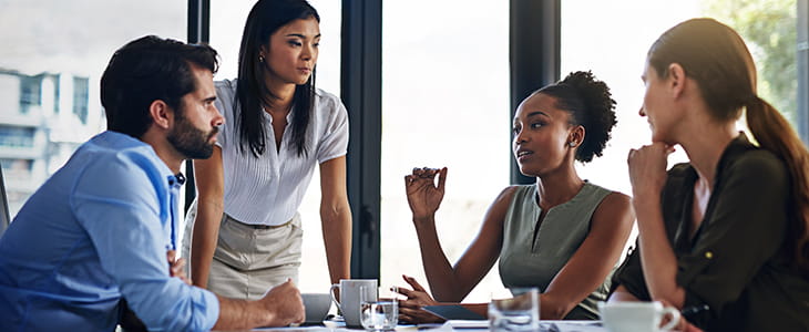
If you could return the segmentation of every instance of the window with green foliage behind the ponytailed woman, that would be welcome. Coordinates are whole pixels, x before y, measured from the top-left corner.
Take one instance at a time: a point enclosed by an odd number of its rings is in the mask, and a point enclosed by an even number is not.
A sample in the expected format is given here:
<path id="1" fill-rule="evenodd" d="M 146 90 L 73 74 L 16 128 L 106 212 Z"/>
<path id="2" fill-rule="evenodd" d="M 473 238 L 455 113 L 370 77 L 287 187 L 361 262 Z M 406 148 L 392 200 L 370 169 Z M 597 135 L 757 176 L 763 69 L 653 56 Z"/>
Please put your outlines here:
<path id="1" fill-rule="evenodd" d="M 610 85 L 617 102 L 618 123 L 613 138 L 603 157 L 580 167 L 584 178 L 632 194 L 626 154 L 629 148 L 648 144 L 652 137 L 646 118 L 638 116 L 646 52 L 667 29 L 698 17 L 715 18 L 740 32 L 756 60 L 759 93 L 792 117 L 797 86 L 793 0 L 565 0 L 562 76 L 571 71 L 592 70 Z M 687 156 L 678 149 L 669 157 L 669 165 L 685 160 Z"/>

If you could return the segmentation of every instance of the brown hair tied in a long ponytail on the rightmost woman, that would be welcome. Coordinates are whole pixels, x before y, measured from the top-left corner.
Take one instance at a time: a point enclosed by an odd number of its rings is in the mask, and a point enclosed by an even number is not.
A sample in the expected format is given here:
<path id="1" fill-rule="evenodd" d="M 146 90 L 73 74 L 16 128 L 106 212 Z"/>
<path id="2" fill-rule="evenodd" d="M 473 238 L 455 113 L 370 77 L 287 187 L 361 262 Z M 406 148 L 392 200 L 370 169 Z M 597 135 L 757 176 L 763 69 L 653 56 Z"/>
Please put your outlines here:
<path id="1" fill-rule="evenodd" d="M 697 81 L 711 116 L 733 121 L 747 110 L 747 125 L 760 147 L 781 158 L 792 179 L 788 246 L 809 274 L 809 152 L 786 118 L 756 93 L 756 65 L 744 40 L 711 19 L 693 19 L 666 31 L 652 45 L 648 63 L 660 77 L 672 63 Z"/>

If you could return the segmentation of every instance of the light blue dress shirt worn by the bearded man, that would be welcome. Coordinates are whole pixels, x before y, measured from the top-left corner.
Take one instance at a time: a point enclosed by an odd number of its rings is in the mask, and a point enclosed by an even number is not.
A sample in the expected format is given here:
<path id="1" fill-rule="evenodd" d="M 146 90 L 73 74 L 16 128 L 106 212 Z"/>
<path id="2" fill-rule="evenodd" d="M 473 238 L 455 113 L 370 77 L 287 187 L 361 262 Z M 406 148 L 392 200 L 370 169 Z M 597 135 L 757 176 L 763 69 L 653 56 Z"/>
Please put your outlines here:
<path id="1" fill-rule="evenodd" d="M 0 331 L 112 331 L 120 302 L 150 331 L 213 328 L 213 293 L 168 276 L 181 181 L 152 147 L 83 144 L 0 238 Z"/>

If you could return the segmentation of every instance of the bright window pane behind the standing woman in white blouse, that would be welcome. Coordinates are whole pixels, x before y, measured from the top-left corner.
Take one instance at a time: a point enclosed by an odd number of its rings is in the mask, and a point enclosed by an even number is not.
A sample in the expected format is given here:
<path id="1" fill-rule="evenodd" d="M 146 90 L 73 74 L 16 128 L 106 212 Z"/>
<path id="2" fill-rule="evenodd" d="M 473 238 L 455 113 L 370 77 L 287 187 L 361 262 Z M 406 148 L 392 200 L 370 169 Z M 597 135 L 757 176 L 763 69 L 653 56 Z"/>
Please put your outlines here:
<path id="1" fill-rule="evenodd" d="M 237 77 L 238 49 L 247 13 L 254 1 L 211 1 L 211 45 L 222 56 L 214 80 Z M 316 86 L 340 95 L 340 1 L 309 0 L 320 14 L 320 54 L 317 61 Z M 304 248 L 298 287 L 304 292 L 327 292 L 331 283 L 326 268 L 320 228 L 320 177 L 315 168 L 301 207 L 298 209 L 304 227 Z"/>

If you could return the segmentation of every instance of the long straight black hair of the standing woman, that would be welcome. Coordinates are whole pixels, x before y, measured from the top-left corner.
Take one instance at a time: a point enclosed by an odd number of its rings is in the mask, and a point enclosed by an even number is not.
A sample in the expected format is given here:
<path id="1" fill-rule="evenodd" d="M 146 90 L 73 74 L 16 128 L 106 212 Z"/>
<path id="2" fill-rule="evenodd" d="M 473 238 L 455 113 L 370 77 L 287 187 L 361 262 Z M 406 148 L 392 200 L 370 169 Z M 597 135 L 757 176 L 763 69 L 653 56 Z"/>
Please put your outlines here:
<path id="1" fill-rule="evenodd" d="M 276 96 L 264 83 L 264 64 L 258 60 L 260 48 L 268 43 L 269 37 L 278 28 L 295 20 L 309 18 L 320 22 L 317 10 L 306 0 L 259 0 L 247 15 L 238 51 L 238 84 L 234 97 L 234 108 L 239 110 L 235 116 L 235 124 L 242 142 L 239 145 L 242 153 L 249 146 L 253 155 L 258 157 L 267 149 L 263 104 L 272 103 Z M 269 95 L 270 100 L 263 100 L 263 95 Z M 315 70 L 313 69 L 309 80 L 295 86 L 293 96 L 291 144 L 299 156 L 307 154 L 306 129 L 309 126 L 314 101 Z M 272 146 L 275 146 L 275 139 L 270 137 L 270 142 Z"/>

